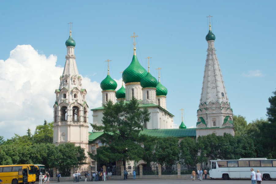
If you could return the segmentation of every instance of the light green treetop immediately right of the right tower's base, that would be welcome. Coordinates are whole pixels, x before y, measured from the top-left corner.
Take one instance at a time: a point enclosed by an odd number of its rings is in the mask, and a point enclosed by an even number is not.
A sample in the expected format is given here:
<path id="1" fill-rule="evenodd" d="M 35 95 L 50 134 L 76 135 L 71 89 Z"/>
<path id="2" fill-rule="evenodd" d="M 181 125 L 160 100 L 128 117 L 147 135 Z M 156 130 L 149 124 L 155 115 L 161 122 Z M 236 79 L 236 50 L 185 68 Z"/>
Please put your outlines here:
<path id="1" fill-rule="evenodd" d="M 247 136 L 247 121 L 245 117 L 240 114 L 238 116 L 233 115 L 233 124 L 235 135 Z"/>

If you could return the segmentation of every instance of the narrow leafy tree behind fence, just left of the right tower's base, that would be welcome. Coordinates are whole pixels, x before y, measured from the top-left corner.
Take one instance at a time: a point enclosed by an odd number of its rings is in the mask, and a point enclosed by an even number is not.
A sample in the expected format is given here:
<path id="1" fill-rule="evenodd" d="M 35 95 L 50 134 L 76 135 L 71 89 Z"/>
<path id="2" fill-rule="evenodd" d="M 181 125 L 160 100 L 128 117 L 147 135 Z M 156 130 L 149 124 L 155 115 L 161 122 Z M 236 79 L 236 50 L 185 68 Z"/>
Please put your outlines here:
<path id="1" fill-rule="evenodd" d="M 198 148 L 195 139 L 190 137 L 184 138 L 180 141 L 180 160 L 187 166 L 195 167 L 198 163 Z"/>

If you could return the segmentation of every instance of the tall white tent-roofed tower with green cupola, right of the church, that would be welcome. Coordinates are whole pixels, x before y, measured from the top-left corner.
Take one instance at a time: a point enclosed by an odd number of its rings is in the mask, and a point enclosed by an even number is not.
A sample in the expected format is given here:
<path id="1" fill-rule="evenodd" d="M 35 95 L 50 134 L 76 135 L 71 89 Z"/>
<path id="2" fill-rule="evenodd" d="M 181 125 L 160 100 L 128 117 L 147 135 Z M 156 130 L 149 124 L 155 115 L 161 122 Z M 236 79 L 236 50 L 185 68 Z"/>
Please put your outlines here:
<path id="1" fill-rule="evenodd" d="M 210 18 L 211 16 L 209 16 Z M 197 111 L 197 128 L 225 128 L 233 133 L 233 112 L 228 101 L 221 69 L 214 48 L 215 35 L 209 25 L 209 33 L 206 35 L 208 43 L 207 57 L 202 82 L 202 92 Z M 223 135 L 223 131 L 218 131 Z M 218 133 L 213 132 L 213 133 Z M 212 133 L 212 132 L 209 132 Z M 197 132 L 198 134 L 198 132 Z M 198 135 L 197 135 L 198 136 Z"/>

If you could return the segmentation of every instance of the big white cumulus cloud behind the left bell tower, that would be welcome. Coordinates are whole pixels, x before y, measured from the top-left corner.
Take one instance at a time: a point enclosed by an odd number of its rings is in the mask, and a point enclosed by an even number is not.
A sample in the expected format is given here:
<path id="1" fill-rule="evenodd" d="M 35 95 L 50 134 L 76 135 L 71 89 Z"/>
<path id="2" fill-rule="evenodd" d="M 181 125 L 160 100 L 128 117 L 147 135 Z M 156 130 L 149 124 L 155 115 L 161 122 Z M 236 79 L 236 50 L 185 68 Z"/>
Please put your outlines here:
<path id="1" fill-rule="evenodd" d="M 53 121 L 54 92 L 63 71 L 56 61 L 57 56 L 46 57 L 31 45 L 18 45 L 8 59 L 0 59 L 0 135 L 5 139 L 14 133 L 26 135 L 28 128 L 33 133 L 44 119 Z M 89 109 L 101 106 L 100 84 L 88 77 L 82 79 Z"/>

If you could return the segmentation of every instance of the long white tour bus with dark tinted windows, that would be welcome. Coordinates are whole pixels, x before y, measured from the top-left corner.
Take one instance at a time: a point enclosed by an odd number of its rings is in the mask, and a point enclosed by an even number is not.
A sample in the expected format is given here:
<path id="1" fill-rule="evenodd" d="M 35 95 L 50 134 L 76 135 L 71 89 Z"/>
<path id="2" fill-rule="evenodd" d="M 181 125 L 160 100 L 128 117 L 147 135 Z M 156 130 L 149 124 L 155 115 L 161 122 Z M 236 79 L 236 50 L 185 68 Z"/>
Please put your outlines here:
<path id="1" fill-rule="evenodd" d="M 264 180 L 276 178 L 276 160 L 247 158 L 239 160 L 210 160 L 210 178 L 250 178 L 250 168 L 259 169 Z"/>

